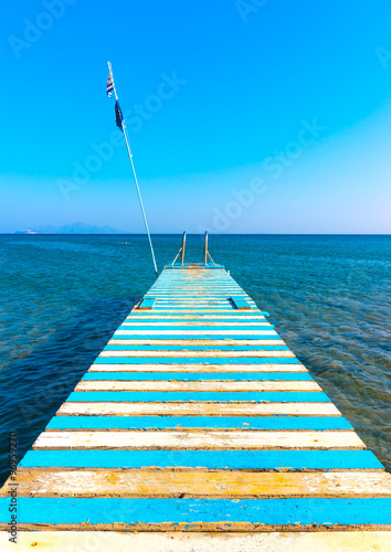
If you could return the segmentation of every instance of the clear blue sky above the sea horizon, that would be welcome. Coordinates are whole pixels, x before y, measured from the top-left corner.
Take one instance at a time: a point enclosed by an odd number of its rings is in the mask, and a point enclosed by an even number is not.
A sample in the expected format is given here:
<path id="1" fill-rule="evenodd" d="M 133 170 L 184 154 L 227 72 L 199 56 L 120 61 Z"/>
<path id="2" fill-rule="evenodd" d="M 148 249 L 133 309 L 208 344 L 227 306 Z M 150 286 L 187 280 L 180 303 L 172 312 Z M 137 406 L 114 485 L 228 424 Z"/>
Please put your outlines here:
<path id="1" fill-rule="evenodd" d="M 391 232 L 389 0 L 0 10 L 0 232 L 144 231 L 107 60 L 152 232 Z"/>

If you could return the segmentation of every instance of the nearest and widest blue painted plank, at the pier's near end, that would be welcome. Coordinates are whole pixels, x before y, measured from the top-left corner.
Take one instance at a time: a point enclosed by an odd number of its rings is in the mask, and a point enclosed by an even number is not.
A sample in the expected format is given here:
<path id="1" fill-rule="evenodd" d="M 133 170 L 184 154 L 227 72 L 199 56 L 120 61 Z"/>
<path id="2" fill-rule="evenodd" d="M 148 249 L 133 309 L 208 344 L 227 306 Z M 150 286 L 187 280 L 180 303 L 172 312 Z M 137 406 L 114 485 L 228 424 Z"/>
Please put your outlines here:
<path id="1" fill-rule="evenodd" d="M 0 498 L 0 522 L 8 523 L 10 498 Z M 150 499 L 18 498 L 18 523 L 215 523 L 277 526 L 390 524 L 390 498 L 355 499 Z"/>

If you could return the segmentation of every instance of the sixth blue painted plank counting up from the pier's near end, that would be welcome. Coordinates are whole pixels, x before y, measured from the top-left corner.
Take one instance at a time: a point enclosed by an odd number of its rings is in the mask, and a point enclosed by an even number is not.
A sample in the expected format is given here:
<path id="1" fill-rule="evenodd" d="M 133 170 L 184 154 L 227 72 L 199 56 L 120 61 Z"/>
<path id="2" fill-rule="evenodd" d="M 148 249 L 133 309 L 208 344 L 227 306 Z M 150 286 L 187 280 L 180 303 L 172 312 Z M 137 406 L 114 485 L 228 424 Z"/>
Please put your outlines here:
<path id="1" fill-rule="evenodd" d="M 98 357 L 94 364 L 300 364 L 294 357 Z"/>

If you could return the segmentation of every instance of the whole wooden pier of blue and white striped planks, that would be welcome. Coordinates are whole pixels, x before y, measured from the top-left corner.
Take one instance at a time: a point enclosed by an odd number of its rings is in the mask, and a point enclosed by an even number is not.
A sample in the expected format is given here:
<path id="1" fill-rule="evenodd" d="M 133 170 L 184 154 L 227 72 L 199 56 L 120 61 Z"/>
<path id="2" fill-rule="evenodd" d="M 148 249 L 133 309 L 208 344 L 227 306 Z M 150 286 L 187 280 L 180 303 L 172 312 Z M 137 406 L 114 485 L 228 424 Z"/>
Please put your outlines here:
<path id="1" fill-rule="evenodd" d="M 20 461 L 1 550 L 391 550 L 391 476 L 205 263 L 162 270 Z"/>

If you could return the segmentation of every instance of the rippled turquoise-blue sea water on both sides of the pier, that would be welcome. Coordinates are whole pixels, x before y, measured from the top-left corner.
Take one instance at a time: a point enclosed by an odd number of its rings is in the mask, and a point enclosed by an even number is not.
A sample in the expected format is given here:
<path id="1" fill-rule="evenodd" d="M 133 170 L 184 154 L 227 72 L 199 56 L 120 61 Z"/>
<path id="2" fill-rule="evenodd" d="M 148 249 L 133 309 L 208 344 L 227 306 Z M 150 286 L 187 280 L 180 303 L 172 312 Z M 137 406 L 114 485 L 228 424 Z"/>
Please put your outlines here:
<path id="1" fill-rule="evenodd" d="M 124 245 L 127 241 L 128 245 Z M 159 269 L 181 237 L 154 236 Z M 391 469 L 391 236 L 210 236 L 360 437 Z M 187 261 L 201 262 L 202 236 Z M 155 282 L 145 236 L 0 236 L 0 479 Z"/>

